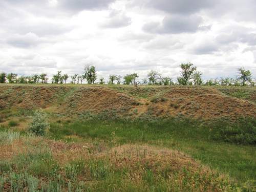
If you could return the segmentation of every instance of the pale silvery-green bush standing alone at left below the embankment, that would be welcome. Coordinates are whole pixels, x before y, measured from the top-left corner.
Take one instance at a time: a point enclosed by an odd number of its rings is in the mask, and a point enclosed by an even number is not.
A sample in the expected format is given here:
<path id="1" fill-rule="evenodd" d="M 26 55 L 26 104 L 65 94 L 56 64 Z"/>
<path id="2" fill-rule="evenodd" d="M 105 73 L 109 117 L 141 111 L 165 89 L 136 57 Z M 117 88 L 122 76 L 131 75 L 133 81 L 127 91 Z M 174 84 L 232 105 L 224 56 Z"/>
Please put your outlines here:
<path id="1" fill-rule="evenodd" d="M 32 119 L 29 131 L 38 136 L 45 135 L 46 130 L 50 127 L 47 121 L 47 116 L 40 111 L 36 111 Z"/>

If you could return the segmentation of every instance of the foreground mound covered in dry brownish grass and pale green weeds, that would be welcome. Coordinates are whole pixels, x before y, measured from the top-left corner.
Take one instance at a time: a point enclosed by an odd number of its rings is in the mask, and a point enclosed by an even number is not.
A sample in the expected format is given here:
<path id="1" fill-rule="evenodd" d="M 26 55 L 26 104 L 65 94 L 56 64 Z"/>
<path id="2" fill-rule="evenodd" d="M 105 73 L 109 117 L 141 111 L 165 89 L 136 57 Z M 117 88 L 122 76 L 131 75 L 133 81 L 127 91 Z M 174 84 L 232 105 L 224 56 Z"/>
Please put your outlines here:
<path id="1" fill-rule="evenodd" d="M 8 158 L 0 159 L 1 191 L 60 188 L 63 191 L 224 191 L 233 188 L 226 176 L 190 157 L 150 145 L 126 144 L 102 151 L 93 143 L 67 144 L 22 136 L 9 144 L 0 144 L 0 151 L 12 152 Z"/>

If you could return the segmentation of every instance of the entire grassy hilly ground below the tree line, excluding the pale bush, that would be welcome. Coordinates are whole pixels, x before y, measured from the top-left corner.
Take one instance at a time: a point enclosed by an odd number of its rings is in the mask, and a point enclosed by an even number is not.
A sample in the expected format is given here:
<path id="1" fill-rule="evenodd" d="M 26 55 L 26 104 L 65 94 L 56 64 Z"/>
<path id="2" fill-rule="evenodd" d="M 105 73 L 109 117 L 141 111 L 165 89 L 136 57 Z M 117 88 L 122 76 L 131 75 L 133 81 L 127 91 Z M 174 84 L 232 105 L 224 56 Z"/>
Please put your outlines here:
<path id="1" fill-rule="evenodd" d="M 0 191 L 254 191 L 255 88 L 0 85 Z M 44 136 L 28 131 L 35 110 Z"/>

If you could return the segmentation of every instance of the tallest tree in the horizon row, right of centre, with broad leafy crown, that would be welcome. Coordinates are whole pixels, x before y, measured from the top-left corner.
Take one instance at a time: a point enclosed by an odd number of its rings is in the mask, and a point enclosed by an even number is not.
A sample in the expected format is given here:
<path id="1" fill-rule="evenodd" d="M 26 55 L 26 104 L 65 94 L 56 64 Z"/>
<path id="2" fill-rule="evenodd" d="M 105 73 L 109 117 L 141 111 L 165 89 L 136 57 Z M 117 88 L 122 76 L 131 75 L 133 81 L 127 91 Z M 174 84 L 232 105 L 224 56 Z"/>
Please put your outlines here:
<path id="1" fill-rule="evenodd" d="M 191 75 L 197 70 L 196 67 L 193 67 L 192 63 L 182 63 L 180 65 L 181 68 L 181 77 L 179 77 L 179 83 L 186 86 L 189 83 L 189 79 L 191 78 Z"/>

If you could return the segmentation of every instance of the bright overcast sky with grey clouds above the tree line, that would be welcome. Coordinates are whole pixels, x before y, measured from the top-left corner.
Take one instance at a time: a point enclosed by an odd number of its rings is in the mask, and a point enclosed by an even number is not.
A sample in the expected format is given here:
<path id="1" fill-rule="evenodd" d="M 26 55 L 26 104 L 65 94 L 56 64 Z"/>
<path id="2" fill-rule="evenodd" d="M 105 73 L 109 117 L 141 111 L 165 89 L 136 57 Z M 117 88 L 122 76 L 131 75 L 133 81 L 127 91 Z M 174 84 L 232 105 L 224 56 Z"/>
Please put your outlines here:
<path id="1" fill-rule="evenodd" d="M 255 0 L 0 0 L 0 71 L 256 77 Z"/>

